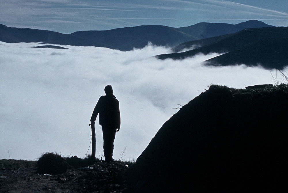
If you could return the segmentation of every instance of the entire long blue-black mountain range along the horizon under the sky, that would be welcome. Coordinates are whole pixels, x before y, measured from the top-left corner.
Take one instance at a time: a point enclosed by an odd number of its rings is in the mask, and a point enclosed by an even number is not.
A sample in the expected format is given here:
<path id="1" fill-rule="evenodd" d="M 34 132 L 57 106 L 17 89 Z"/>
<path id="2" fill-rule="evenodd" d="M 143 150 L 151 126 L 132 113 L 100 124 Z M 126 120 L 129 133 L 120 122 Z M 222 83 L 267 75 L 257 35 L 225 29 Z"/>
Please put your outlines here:
<path id="1" fill-rule="evenodd" d="M 7 27 L 0 24 L 0 41 L 7 43 L 45 42 L 71 46 L 96 46 L 128 51 L 134 48 L 143 48 L 149 42 L 157 46 L 173 47 L 187 41 L 234 33 L 251 27 L 272 26 L 257 20 L 251 20 L 236 25 L 199 23 L 181 28 L 147 25 L 62 34 L 48 30 Z"/>

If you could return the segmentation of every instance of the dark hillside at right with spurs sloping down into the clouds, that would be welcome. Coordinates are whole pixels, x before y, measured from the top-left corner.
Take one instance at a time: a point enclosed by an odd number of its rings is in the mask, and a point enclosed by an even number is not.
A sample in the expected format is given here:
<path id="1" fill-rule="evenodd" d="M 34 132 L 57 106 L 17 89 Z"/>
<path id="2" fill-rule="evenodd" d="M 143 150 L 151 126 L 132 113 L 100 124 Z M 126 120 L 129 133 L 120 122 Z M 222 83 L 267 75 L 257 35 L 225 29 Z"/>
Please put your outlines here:
<path id="1" fill-rule="evenodd" d="M 207 60 L 206 65 L 246 64 L 247 66 L 261 65 L 266 69 L 283 69 L 288 64 L 288 58 L 285 57 L 288 56 L 287 34 L 288 27 L 245 29 L 234 34 L 187 42 L 182 46 L 198 45 L 198 48 L 180 53 L 161 54 L 157 57 L 184 59 L 199 53 L 224 53 Z M 175 48 L 175 50 L 179 49 Z"/>

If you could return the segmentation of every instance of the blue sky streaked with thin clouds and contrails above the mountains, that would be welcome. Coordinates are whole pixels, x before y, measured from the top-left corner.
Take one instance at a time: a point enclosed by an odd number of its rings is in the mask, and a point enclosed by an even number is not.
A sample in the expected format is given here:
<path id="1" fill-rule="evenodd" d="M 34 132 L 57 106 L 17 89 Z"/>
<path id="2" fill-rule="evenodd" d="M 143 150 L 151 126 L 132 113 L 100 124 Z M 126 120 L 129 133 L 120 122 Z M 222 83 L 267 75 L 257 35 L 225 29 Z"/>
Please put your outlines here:
<path id="1" fill-rule="evenodd" d="M 288 26 L 288 3 L 283 0 L 0 0 L 1 24 L 60 33 L 138 25 L 237 24 L 251 19 Z"/>

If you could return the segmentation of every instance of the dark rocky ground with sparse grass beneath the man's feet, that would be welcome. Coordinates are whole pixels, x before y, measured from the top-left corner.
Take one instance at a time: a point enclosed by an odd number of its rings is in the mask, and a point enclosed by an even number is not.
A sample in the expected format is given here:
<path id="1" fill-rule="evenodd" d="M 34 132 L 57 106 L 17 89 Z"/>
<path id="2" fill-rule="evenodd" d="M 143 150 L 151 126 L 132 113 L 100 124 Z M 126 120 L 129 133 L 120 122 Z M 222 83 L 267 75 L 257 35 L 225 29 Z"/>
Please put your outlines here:
<path id="1" fill-rule="evenodd" d="M 1 169 L 0 192 L 123 192 L 127 187 L 123 174 L 131 165 L 131 162 L 99 160 L 57 175 L 38 174 L 35 168 Z"/>

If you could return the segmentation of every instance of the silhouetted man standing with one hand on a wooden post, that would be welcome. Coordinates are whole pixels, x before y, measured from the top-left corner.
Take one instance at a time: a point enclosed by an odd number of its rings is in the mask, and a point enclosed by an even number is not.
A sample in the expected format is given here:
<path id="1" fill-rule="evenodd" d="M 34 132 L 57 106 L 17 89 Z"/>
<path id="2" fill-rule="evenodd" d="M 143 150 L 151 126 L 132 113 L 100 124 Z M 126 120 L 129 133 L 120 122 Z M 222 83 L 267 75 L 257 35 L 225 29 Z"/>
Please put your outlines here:
<path id="1" fill-rule="evenodd" d="M 100 96 L 91 116 L 91 124 L 95 124 L 99 113 L 99 124 L 102 125 L 103 149 L 105 161 L 114 161 L 112 158 L 116 131 L 120 130 L 119 102 L 113 94 L 111 85 L 105 86 L 106 95 Z"/>

